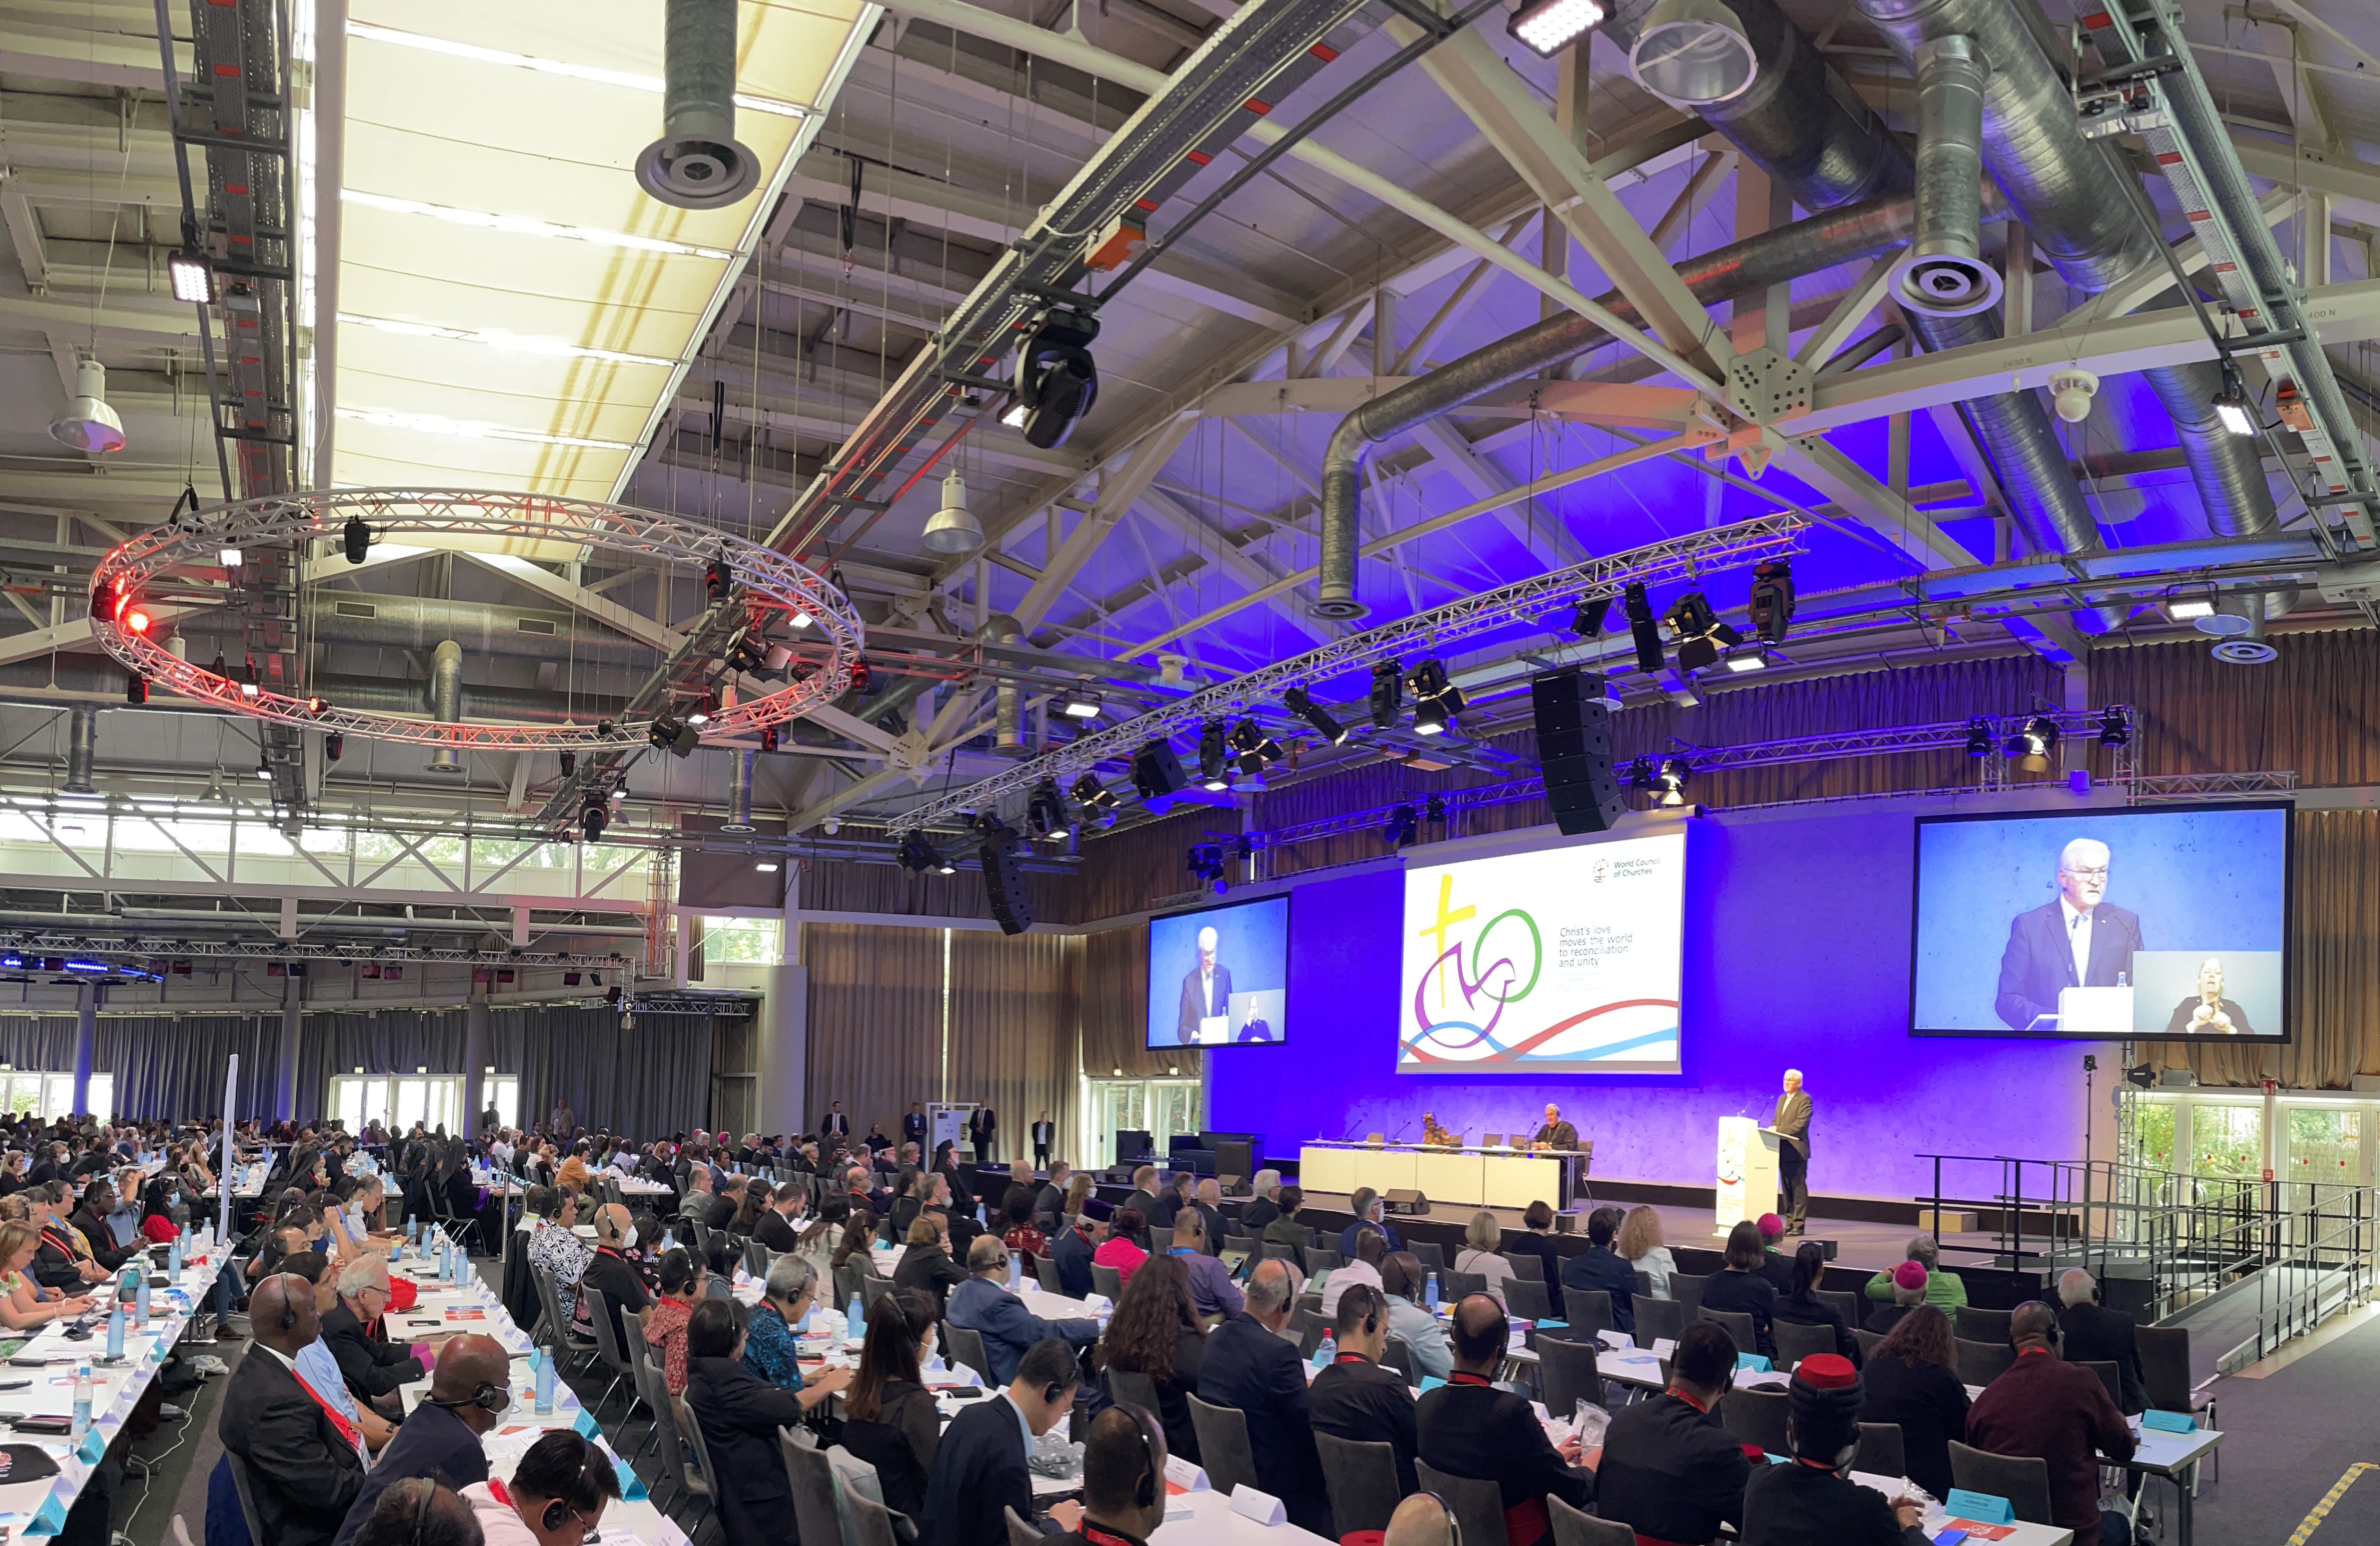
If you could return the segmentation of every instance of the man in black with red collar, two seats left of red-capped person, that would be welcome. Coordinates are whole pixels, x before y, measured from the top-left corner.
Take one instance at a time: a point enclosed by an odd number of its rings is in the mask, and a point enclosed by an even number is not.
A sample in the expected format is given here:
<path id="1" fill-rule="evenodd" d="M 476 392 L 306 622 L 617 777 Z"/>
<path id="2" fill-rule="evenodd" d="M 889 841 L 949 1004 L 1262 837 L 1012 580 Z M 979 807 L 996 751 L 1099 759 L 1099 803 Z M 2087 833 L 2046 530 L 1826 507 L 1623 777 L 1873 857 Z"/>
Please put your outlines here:
<path id="1" fill-rule="evenodd" d="M 1495 1387 L 1509 1339 L 1511 1322 L 1497 1301 L 1471 1294 L 1454 1306 L 1454 1380 L 1421 1396 L 1414 1427 L 1423 1460 L 1454 1477 L 1497 1484 L 1511 1546 L 1537 1546 L 1554 1534 L 1545 1498 L 1585 1510 L 1595 1501 L 1595 1472 L 1580 1465 L 1578 1439 L 1554 1448 L 1528 1396 Z"/>

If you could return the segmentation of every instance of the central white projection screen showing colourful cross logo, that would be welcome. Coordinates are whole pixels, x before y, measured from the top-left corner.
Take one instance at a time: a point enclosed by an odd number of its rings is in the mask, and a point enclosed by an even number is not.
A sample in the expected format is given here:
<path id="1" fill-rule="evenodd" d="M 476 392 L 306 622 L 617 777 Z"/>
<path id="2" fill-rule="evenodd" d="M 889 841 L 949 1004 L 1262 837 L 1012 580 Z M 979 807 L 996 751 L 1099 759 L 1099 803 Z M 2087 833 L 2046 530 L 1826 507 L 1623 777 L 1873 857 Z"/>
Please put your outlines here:
<path id="1" fill-rule="evenodd" d="M 1404 871 L 1397 1073 L 1678 1073 L 1685 832 Z"/>

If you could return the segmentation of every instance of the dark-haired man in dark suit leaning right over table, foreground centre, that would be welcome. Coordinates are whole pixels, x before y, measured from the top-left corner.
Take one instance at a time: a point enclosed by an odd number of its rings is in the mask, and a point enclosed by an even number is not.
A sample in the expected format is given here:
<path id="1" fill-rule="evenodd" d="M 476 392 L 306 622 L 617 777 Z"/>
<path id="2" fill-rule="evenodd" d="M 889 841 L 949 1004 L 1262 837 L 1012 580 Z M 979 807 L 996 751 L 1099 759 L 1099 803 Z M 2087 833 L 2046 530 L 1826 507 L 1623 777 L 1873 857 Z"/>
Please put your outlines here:
<path id="1" fill-rule="evenodd" d="M 1290 1358 L 1297 1351 L 1290 1349 Z M 1026 1446 L 1073 1410 L 1081 1368 L 1064 1341 L 1035 1341 L 1016 1360 L 1016 1377 L 990 1401 L 962 1410 L 933 1451 L 926 1479 L 926 1534 L 921 1546 L 1009 1546 L 1007 1510 L 1033 1517 L 1033 1475 Z M 1159 1501 L 1164 1482 L 1159 1479 Z M 1059 1529 L 1083 1522 L 1081 1503 L 1057 1503 Z M 757 1536 L 754 1536 L 757 1539 Z"/>

